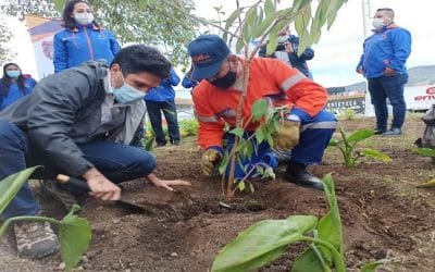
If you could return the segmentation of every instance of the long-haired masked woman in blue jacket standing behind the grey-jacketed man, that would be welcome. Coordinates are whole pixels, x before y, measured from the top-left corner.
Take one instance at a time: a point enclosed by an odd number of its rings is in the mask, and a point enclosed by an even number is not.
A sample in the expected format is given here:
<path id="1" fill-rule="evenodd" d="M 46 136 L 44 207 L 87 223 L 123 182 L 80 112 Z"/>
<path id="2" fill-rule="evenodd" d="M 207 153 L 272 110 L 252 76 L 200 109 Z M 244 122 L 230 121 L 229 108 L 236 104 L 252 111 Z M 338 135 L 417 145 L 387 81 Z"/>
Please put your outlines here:
<path id="1" fill-rule="evenodd" d="M 110 64 L 120 51 L 115 36 L 95 20 L 88 2 L 69 1 L 62 14 L 64 30 L 54 35 L 54 73 L 84 62 L 105 61 Z"/>

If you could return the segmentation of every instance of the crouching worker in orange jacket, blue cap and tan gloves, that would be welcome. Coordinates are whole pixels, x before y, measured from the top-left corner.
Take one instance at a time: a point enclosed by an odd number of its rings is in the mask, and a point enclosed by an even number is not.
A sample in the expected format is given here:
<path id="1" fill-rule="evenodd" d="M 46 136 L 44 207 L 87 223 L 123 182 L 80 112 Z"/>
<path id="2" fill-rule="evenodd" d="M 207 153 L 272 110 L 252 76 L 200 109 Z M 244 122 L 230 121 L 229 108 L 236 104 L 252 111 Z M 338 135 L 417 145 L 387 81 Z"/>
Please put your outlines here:
<path id="1" fill-rule="evenodd" d="M 194 92 L 195 112 L 199 122 L 198 144 L 204 150 L 201 168 L 210 175 L 223 158 L 225 122 L 235 127 L 236 109 L 241 97 L 245 60 L 233 54 L 217 35 L 201 35 L 187 48 L 194 71 L 192 81 L 201 81 Z M 307 166 L 322 161 L 324 149 L 336 127 L 336 119 L 325 110 L 327 92 L 325 88 L 306 77 L 297 69 L 279 60 L 253 58 L 246 101 L 243 107 L 245 122 L 251 115 L 251 107 L 259 99 L 268 99 L 274 104 L 288 104 L 288 112 L 279 129 L 272 135 L 274 148 L 291 149 L 284 178 L 295 184 L 323 189 L 323 183 L 312 175 Z M 254 132 L 258 123 L 247 126 L 247 133 Z M 233 136 L 234 138 L 234 136 Z M 234 139 L 229 135 L 229 144 Z M 229 145 L 231 146 L 231 145 Z M 256 163 L 277 166 L 271 147 L 261 143 L 250 161 L 236 165 L 236 177 Z M 236 163 L 237 164 L 237 163 Z"/>

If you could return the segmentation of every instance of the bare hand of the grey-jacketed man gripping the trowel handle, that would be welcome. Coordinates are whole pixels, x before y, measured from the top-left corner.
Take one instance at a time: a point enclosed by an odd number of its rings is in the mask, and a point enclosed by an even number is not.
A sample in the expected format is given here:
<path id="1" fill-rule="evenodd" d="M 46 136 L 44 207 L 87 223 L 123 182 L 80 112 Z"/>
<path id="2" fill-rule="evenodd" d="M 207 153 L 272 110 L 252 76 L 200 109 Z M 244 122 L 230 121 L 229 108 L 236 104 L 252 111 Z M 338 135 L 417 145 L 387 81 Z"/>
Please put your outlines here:
<path id="1" fill-rule="evenodd" d="M 121 199 L 121 188 L 109 181 L 97 169 L 88 170 L 84 175 L 89 185 L 89 195 L 101 200 Z"/>

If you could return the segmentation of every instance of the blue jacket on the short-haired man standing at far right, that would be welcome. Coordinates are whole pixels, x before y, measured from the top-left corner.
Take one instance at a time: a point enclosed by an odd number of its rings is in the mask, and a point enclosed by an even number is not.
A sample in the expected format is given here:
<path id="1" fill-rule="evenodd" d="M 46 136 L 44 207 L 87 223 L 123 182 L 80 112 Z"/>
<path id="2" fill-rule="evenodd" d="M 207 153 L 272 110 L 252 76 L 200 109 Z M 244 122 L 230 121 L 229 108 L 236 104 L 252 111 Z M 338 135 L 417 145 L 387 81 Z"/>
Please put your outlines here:
<path id="1" fill-rule="evenodd" d="M 364 40 L 364 51 L 357 70 L 368 78 L 384 75 L 386 67 L 396 74 L 406 74 L 405 63 L 411 53 L 411 34 L 394 24 L 375 32 Z"/>

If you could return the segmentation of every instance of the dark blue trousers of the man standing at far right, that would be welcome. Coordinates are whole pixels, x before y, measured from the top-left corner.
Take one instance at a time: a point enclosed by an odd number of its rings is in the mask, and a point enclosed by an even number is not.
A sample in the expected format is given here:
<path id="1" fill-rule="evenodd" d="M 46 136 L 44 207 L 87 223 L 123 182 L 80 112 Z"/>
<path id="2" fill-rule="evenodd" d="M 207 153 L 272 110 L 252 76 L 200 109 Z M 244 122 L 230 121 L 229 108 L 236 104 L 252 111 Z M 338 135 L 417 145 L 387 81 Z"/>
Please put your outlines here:
<path id="1" fill-rule="evenodd" d="M 393 107 L 391 128 L 401 128 L 405 123 L 407 106 L 403 98 L 403 85 L 408 74 L 369 78 L 369 91 L 376 115 L 376 128 L 386 131 L 388 121 L 387 98 Z"/>

